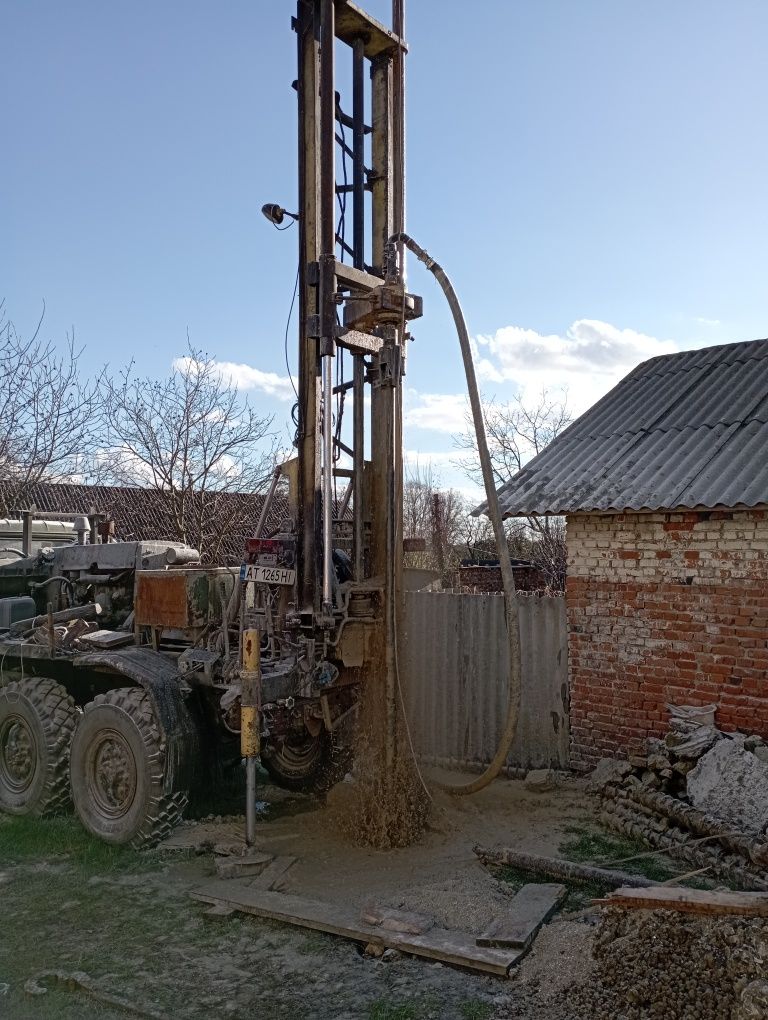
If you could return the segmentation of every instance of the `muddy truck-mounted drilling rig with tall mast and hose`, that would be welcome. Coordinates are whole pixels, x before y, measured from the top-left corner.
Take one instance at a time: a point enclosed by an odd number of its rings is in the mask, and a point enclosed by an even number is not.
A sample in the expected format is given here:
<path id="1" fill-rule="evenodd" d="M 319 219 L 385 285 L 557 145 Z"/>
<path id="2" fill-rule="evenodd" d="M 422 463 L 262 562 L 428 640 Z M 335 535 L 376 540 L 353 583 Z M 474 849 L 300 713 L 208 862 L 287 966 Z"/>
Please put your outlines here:
<path id="1" fill-rule="evenodd" d="M 97 837 L 151 846 L 222 762 L 245 759 L 252 842 L 257 761 L 290 787 L 332 781 L 370 685 L 383 767 L 394 766 L 402 380 L 408 323 L 421 314 L 405 289 L 406 247 L 454 312 L 511 578 L 466 327 L 445 273 L 403 233 L 403 0 L 392 29 L 350 0 L 298 0 L 293 29 L 299 207 L 263 211 L 275 225 L 298 222 L 296 456 L 274 473 L 239 575 L 172 543 L 104 541 L 103 523 L 81 524 L 72 546 L 0 565 L 0 810 L 42 815 L 71 800 Z M 340 54 L 351 105 L 336 91 Z M 280 481 L 288 512 L 269 528 Z M 514 727 L 510 694 L 492 772 Z"/>

